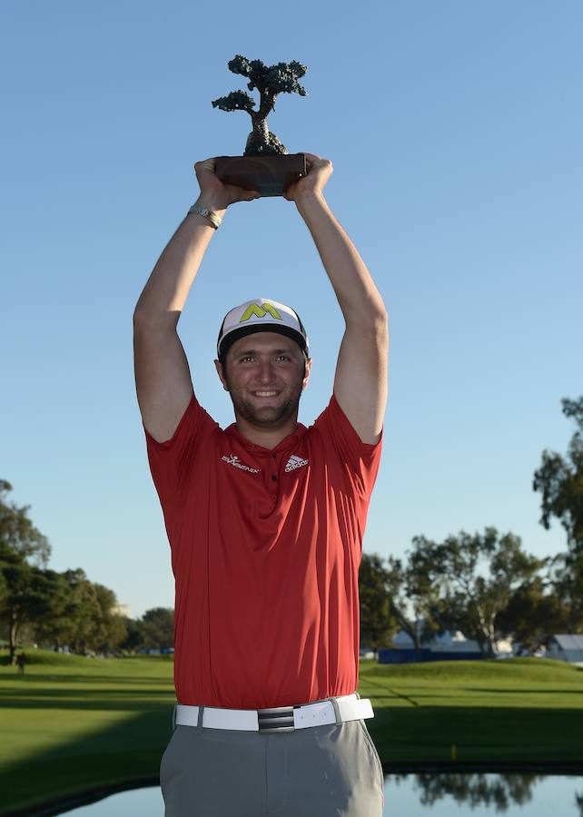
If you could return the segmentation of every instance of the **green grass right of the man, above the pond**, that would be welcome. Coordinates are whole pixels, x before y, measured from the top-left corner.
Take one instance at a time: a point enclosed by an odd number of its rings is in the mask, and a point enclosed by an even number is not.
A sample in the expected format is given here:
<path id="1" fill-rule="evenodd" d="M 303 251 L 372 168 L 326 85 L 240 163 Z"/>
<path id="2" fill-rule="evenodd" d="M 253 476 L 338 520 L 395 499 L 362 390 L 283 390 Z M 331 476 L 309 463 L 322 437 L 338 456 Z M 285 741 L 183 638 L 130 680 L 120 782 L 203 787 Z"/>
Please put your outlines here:
<path id="1" fill-rule="evenodd" d="M 582 763 L 583 671 L 562 661 L 361 664 L 386 765 Z"/>

